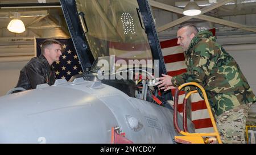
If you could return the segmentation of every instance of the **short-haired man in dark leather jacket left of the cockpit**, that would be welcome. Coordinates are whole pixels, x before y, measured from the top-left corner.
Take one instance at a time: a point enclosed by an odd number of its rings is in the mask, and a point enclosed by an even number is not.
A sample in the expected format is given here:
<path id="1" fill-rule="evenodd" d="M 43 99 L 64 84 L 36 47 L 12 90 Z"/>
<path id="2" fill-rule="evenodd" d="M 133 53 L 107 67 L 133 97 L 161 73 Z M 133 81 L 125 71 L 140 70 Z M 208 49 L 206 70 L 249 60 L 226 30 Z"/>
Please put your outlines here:
<path id="1" fill-rule="evenodd" d="M 36 85 L 55 82 L 55 72 L 52 63 L 60 60 L 62 44 L 54 39 L 46 39 L 42 43 L 41 55 L 31 60 L 20 70 L 16 87 L 26 90 L 35 89 Z"/>

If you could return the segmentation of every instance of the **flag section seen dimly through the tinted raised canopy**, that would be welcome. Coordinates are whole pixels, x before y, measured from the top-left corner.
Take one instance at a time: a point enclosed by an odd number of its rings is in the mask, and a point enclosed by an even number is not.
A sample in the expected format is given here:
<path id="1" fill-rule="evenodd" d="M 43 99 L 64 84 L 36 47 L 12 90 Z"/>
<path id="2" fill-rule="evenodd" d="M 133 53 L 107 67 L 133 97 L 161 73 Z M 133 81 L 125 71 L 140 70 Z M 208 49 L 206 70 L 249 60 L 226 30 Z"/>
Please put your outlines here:
<path id="1" fill-rule="evenodd" d="M 146 68 L 146 66 L 148 66 L 148 68 L 153 67 L 152 61 L 150 61 L 152 60 L 150 45 L 147 41 L 129 40 L 129 42 L 118 42 L 103 40 L 94 36 L 88 36 L 86 39 L 88 40 L 90 51 L 92 51 L 92 55 L 94 57 L 114 57 L 116 71 L 118 69 L 134 68 L 133 64 L 130 64 L 129 60 L 138 60 L 141 62 L 142 68 Z M 123 61 L 118 62 L 118 60 L 124 60 L 126 64 L 120 64 L 123 63 Z"/>

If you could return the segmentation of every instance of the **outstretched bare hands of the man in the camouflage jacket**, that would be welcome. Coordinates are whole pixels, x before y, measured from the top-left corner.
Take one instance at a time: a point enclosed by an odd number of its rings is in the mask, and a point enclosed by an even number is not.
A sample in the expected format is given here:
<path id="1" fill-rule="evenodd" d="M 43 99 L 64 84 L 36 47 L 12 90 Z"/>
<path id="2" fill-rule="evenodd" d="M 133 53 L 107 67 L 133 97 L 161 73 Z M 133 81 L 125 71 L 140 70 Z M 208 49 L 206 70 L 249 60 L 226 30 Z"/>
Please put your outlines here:
<path id="1" fill-rule="evenodd" d="M 175 87 L 172 86 L 172 77 L 171 76 L 168 76 L 168 75 L 165 75 L 165 74 L 162 74 L 163 77 L 160 77 L 160 78 L 156 78 L 159 80 L 159 82 L 156 82 L 155 85 L 159 85 L 158 87 L 160 89 L 164 89 L 164 91 L 167 91 L 167 90 L 170 90 L 170 89 L 174 89 Z"/>

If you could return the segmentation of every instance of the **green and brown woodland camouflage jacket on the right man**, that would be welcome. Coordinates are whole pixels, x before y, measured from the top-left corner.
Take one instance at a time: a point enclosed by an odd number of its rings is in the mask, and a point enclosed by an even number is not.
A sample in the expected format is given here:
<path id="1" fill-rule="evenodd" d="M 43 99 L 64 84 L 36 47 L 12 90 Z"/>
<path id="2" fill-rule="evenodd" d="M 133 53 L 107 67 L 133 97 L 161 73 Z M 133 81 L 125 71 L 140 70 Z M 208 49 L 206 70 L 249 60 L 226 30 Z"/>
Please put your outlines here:
<path id="1" fill-rule="evenodd" d="M 215 115 L 256 98 L 240 67 L 210 31 L 200 31 L 185 52 L 187 72 L 172 78 L 174 86 L 197 82 L 204 87 Z M 188 90 L 188 89 L 185 89 Z M 203 95 L 199 92 L 201 97 Z"/>

